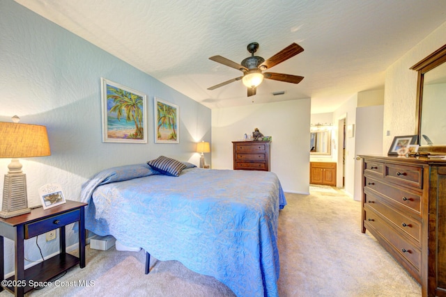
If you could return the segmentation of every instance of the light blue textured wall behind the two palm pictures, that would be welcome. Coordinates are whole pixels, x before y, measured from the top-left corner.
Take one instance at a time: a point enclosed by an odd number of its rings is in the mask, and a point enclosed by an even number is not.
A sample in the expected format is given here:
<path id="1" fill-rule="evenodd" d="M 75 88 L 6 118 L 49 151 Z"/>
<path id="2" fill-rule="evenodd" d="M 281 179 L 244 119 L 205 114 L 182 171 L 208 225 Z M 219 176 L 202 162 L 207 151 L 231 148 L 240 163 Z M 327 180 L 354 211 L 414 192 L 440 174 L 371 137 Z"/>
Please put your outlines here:
<path id="1" fill-rule="evenodd" d="M 148 143 L 102 143 L 100 77 L 147 95 Z M 179 144 L 154 143 L 154 97 L 179 106 Z M 160 154 L 198 163 L 195 143 L 210 141 L 210 109 L 20 4 L 1 0 L 0 121 L 10 122 L 13 115 L 47 126 L 49 134 L 51 156 L 21 160 L 31 206 L 40 204 L 43 184 L 59 183 L 66 198 L 79 200 L 82 183 L 103 168 L 144 163 Z M 210 154 L 206 159 L 210 163 Z M 0 159 L 1 176 L 9 161 Z M 3 181 L 0 186 L 2 192 Z M 70 245 L 76 239 L 69 233 Z M 44 256 L 58 250 L 45 236 L 38 242 Z M 12 251 L 8 241 L 6 255 Z M 26 242 L 25 254 L 40 257 L 35 239 Z M 6 272 L 12 268 L 7 262 Z"/>

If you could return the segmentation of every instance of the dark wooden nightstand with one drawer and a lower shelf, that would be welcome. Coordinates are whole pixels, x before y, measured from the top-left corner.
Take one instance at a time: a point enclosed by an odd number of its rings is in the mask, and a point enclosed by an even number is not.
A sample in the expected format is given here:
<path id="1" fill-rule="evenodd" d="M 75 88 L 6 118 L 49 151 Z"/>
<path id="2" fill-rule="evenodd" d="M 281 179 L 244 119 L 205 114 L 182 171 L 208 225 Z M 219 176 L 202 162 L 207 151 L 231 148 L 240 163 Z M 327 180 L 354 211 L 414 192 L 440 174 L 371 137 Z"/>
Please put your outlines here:
<path id="1" fill-rule="evenodd" d="M 43 209 L 32 209 L 29 214 L 0 218 L 0 275 L 4 280 L 3 237 L 15 242 L 15 275 L 6 280 L 4 289 L 13 292 L 15 296 L 24 296 L 33 287 L 33 282 L 46 282 L 59 273 L 79 264 L 85 267 L 85 225 L 84 207 L 86 203 L 67 200 L 66 203 Z M 66 253 L 65 226 L 79 222 L 79 257 Z M 24 269 L 24 239 L 44 234 L 59 228 L 60 253 L 46 259 L 31 268 Z M 17 286 L 14 286 L 16 284 Z M 3 283 L 2 283 L 3 285 Z M 0 287 L 3 291 L 3 287 Z"/>

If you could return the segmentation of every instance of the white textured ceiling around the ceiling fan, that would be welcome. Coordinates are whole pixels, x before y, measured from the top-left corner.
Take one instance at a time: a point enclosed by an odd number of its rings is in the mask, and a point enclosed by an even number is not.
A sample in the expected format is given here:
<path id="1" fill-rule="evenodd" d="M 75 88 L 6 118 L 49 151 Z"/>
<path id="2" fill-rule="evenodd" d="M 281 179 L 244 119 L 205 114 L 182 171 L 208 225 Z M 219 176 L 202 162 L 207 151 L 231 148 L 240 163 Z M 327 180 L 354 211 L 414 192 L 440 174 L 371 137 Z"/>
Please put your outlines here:
<path id="1" fill-rule="evenodd" d="M 334 111 L 383 88 L 385 69 L 446 22 L 443 0 L 16 1 L 211 109 L 311 97 L 312 113 Z M 249 42 L 263 58 L 298 43 L 270 71 L 305 79 L 265 80 L 253 97 L 241 81 L 206 90 L 242 74 L 208 58 L 240 63 Z"/>

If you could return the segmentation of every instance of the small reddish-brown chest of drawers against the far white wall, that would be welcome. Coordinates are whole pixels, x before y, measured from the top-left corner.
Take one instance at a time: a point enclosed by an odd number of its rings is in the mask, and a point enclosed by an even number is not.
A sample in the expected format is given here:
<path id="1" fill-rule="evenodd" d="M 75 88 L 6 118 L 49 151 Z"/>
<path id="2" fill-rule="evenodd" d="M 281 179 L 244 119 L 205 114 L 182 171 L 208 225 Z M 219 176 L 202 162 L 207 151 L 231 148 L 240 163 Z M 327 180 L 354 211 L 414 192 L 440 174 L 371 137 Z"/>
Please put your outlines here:
<path id="1" fill-rule="evenodd" d="M 233 141 L 233 169 L 270 171 L 270 141 Z"/>

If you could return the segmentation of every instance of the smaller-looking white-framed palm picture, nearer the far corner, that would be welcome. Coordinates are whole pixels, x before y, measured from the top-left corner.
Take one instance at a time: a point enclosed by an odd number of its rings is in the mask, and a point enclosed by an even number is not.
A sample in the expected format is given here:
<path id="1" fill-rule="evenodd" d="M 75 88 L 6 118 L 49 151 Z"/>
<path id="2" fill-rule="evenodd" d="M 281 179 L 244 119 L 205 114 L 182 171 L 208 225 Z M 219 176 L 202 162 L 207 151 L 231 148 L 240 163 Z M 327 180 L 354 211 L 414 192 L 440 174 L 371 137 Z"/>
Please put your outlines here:
<path id="1" fill-rule="evenodd" d="M 178 106 L 155 97 L 155 143 L 180 143 Z"/>

